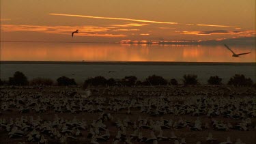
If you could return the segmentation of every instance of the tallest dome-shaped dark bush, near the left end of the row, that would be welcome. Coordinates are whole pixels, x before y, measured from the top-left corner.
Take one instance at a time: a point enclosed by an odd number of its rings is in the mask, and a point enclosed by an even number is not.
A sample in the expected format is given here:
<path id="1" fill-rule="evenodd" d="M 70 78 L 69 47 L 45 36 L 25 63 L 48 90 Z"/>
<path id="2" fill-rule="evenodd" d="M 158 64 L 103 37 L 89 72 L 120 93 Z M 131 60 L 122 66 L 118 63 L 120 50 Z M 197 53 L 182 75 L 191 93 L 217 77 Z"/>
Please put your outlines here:
<path id="1" fill-rule="evenodd" d="M 9 85 L 29 85 L 27 76 L 23 72 L 15 72 L 13 77 L 9 78 Z"/>

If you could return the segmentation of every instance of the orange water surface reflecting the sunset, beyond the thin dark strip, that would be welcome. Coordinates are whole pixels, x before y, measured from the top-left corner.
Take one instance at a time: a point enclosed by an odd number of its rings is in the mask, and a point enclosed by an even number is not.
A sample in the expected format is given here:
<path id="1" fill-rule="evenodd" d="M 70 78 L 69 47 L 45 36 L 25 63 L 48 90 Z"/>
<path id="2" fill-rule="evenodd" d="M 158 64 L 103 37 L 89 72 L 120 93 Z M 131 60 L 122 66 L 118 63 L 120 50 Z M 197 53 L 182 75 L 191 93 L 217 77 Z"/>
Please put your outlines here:
<path id="1" fill-rule="evenodd" d="M 194 61 L 255 62 L 255 46 L 1 42 L 1 61 Z"/>

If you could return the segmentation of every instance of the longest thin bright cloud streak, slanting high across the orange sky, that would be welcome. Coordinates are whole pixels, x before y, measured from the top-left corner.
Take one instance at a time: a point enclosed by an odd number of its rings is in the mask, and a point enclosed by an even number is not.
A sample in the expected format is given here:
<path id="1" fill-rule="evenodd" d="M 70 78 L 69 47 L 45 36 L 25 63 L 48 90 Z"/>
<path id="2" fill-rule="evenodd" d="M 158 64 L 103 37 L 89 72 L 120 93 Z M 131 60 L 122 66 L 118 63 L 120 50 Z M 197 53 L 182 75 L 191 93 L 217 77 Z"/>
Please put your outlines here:
<path id="1" fill-rule="evenodd" d="M 139 20 L 139 19 L 132 19 L 132 18 L 112 18 L 112 17 L 103 17 L 103 16 L 85 16 L 85 15 L 77 15 L 77 14 L 55 14 L 51 13 L 50 15 L 54 16 L 74 16 L 74 17 L 81 17 L 81 18 L 98 18 L 98 19 L 107 19 L 107 20 L 128 20 L 128 21 L 136 21 L 141 23 L 160 23 L 160 24 L 169 24 L 175 25 L 177 23 L 173 22 L 161 22 L 161 21 L 154 21 L 154 20 Z"/>

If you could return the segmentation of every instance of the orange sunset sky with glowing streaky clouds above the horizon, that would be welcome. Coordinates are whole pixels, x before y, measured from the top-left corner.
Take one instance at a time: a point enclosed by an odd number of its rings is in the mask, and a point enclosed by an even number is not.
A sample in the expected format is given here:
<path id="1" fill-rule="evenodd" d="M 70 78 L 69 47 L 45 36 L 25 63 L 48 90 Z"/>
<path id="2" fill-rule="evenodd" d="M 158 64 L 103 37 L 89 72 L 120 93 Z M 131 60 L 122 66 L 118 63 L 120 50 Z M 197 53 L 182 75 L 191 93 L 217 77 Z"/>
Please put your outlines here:
<path id="1" fill-rule="evenodd" d="M 240 37 L 255 37 L 255 0 L 1 0 L 1 41 Z"/>

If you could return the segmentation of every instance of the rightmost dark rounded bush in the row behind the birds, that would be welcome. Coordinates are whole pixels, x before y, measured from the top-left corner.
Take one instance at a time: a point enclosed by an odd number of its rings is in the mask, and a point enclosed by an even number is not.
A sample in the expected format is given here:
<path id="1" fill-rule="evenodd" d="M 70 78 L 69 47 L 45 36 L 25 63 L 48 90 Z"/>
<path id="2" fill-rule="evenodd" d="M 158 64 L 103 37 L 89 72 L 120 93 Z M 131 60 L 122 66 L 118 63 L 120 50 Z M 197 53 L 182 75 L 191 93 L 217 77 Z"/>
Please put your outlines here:
<path id="1" fill-rule="evenodd" d="M 229 79 L 227 85 L 234 85 L 234 86 L 252 86 L 253 81 L 251 78 L 246 78 L 243 74 L 235 74 L 235 76 Z"/>

